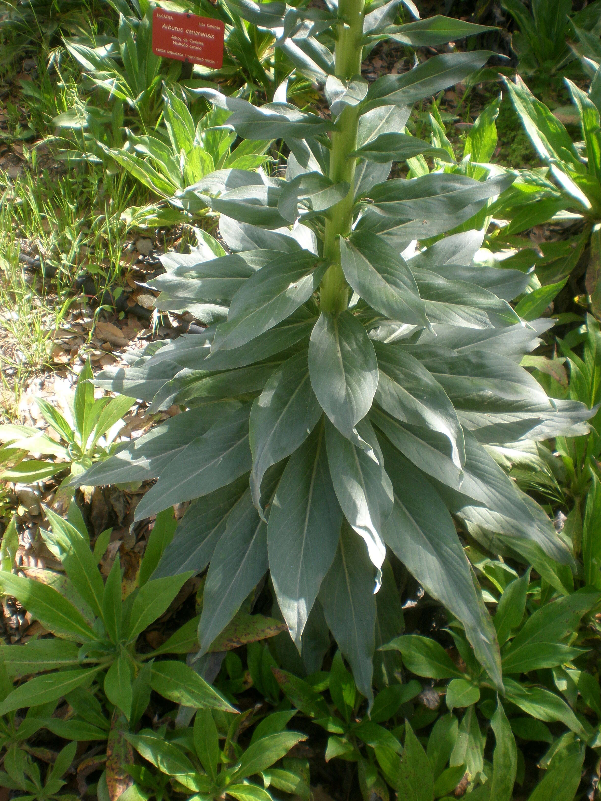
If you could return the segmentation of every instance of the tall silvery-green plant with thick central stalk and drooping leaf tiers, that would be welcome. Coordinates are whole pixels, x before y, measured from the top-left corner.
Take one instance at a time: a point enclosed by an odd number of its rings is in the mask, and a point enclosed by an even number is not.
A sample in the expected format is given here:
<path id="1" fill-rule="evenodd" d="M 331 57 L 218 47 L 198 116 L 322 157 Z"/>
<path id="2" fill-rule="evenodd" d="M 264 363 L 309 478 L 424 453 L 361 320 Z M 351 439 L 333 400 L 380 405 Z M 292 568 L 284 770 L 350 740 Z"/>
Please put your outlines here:
<path id="1" fill-rule="evenodd" d="M 271 7 L 250 6 L 268 25 Z M 395 8 L 341 0 L 324 20 L 333 52 L 306 37 L 329 115 L 300 111 L 285 87 L 261 107 L 198 91 L 232 112 L 242 139 L 281 139 L 286 175 L 219 170 L 181 193 L 220 214 L 224 250 L 204 238 L 174 256 L 170 291 L 220 308 L 203 335 L 151 344 L 98 385 L 151 412 L 184 411 L 75 480 L 157 479 L 136 520 L 193 501 L 154 575 L 208 567 L 200 654 L 268 572 L 303 660 L 329 628 L 369 702 L 387 553 L 461 623 L 502 691 L 497 635 L 455 521 L 477 541 L 569 565 L 551 520 L 485 446 L 569 435 L 590 416 L 551 402 L 519 366 L 549 324 L 525 324 L 509 304 L 530 276 L 474 264 L 482 230 L 418 244 L 462 225 L 514 175 L 387 180 L 393 162 L 432 147 L 403 132 L 413 103 L 490 56 L 437 55 L 369 83 L 362 48 L 389 33 L 441 44 L 482 32 L 442 17 L 389 31 Z"/>

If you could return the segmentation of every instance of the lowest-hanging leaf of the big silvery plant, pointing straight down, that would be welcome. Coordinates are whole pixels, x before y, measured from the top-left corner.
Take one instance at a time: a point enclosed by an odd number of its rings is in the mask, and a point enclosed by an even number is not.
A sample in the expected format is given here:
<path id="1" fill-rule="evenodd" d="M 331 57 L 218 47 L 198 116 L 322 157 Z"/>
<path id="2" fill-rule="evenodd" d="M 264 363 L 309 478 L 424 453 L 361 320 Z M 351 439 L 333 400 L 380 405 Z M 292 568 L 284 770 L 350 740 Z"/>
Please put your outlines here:
<path id="1" fill-rule="evenodd" d="M 376 622 L 373 565 L 365 545 L 345 525 L 319 598 L 338 647 L 353 669 L 357 688 L 371 704 Z"/>

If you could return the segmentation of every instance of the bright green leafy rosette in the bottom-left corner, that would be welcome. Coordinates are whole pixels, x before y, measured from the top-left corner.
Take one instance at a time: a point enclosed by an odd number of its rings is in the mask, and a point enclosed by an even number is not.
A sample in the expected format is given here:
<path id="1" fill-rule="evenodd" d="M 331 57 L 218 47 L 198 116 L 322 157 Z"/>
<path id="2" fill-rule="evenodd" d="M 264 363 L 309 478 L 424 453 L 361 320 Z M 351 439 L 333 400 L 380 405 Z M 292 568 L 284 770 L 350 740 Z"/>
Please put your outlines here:
<path id="1" fill-rule="evenodd" d="M 91 686 L 102 690 L 113 721 L 123 718 L 126 728 L 133 729 L 142 718 L 151 690 L 186 706 L 235 711 L 204 678 L 177 658 L 193 649 L 196 625 L 192 632 L 190 626 L 183 626 L 150 653 L 136 648 L 139 635 L 164 614 L 190 575 L 148 578 L 168 539 L 167 521 L 155 525 L 155 536 L 151 536 L 140 566 L 139 586 L 123 600 L 119 555 L 106 583 L 99 571 L 108 538 L 104 537 L 95 551 L 91 549 L 75 502 L 70 509 L 73 522 L 50 509 L 46 509 L 46 516 L 52 530 L 43 536 L 63 563 L 66 576 L 38 570 L 35 578 L 29 578 L 0 571 L 2 592 L 17 598 L 32 618 L 54 634 L 53 638 L 32 639 L 25 645 L 0 650 L 2 670 L 18 681 L 18 686 L 3 689 L 0 714 L 14 715 L 22 708 L 32 708 L 32 714 L 18 727 L 16 739 L 22 739 L 25 724 L 30 733 L 45 727 L 67 739 L 107 739 L 110 721 L 95 692 L 87 691 Z M 175 658 L 160 658 L 163 654 Z M 54 707 L 63 697 L 75 711 L 75 718 L 52 718 Z"/>

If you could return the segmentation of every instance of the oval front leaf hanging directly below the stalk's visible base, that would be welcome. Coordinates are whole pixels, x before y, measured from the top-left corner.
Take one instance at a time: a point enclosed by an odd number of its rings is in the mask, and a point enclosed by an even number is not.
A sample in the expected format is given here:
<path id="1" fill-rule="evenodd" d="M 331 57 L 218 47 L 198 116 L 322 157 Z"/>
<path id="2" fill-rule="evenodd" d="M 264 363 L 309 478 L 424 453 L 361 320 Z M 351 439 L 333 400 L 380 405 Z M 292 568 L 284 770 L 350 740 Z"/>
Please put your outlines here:
<path id="1" fill-rule="evenodd" d="M 365 328 L 350 312 L 322 312 L 309 343 L 309 376 L 321 408 L 344 437 L 357 440 L 358 421 L 377 388 L 377 360 Z"/>

